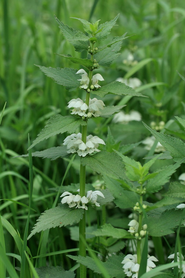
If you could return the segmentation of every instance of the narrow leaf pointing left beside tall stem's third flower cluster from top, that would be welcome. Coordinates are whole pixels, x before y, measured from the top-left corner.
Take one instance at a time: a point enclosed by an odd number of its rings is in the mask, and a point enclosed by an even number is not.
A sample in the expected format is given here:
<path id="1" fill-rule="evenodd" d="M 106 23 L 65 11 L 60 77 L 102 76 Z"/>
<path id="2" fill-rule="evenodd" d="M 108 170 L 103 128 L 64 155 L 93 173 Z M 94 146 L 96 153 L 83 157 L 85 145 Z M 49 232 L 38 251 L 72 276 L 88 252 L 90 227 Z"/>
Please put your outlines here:
<path id="1" fill-rule="evenodd" d="M 68 158 L 71 154 L 68 154 L 67 151 L 68 151 L 67 147 L 62 145 L 59 147 L 52 147 L 47 150 L 34 152 L 34 153 L 32 153 L 32 156 L 42 157 L 42 158 L 50 158 L 51 160 L 55 160 L 60 157 Z M 27 156 L 28 156 L 28 154 L 23 154 L 23 155 L 16 156 L 16 157 L 27 157 Z"/>

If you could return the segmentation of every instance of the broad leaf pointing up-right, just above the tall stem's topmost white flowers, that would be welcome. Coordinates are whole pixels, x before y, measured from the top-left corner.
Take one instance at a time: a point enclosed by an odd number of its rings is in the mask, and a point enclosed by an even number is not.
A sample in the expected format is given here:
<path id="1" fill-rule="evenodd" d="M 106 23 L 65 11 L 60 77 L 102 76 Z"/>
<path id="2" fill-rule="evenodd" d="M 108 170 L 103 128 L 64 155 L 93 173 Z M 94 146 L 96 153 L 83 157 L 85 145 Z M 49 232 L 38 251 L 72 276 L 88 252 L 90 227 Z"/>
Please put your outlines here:
<path id="1" fill-rule="evenodd" d="M 110 47 L 103 48 L 101 51 L 94 54 L 94 59 L 96 59 L 99 65 L 109 67 L 120 54 L 118 51 L 121 49 L 121 44 L 122 41 L 119 41 Z"/>

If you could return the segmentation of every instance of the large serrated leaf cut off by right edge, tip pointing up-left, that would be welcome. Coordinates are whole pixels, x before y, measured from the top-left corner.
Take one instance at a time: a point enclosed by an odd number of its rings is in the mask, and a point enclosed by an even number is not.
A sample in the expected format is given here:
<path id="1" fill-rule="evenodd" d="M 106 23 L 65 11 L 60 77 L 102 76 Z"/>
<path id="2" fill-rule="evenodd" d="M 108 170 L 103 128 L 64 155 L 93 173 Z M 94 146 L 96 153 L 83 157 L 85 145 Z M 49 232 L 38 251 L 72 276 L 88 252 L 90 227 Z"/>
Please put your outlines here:
<path id="1" fill-rule="evenodd" d="M 161 132 L 157 132 L 143 123 L 154 137 L 163 145 L 171 154 L 174 161 L 179 161 L 185 157 L 185 144 L 182 140 L 172 137 Z"/>

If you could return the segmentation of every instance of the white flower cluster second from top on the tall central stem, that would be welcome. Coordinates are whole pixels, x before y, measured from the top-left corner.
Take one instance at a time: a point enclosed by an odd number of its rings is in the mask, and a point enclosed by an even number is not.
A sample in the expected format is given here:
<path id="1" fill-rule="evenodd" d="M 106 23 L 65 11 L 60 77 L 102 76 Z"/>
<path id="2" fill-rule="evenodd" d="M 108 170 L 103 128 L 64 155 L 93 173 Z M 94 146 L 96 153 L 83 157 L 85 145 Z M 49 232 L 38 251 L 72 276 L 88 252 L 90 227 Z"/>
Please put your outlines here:
<path id="1" fill-rule="evenodd" d="M 74 109 L 71 109 L 72 115 L 78 114 L 79 116 L 88 118 L 90 118 L 91 116 L 99 117 L 101 115 L 100 109 L 103 109 L 104 106 L 105 104 L 103 103 L 103 101 L 97 100 L 96 98 L 89 99 L 89 106 L 79 98 L 72 99 L 68 102 L 69 108 L 74 107 Z"/>

